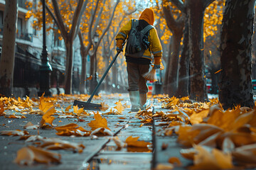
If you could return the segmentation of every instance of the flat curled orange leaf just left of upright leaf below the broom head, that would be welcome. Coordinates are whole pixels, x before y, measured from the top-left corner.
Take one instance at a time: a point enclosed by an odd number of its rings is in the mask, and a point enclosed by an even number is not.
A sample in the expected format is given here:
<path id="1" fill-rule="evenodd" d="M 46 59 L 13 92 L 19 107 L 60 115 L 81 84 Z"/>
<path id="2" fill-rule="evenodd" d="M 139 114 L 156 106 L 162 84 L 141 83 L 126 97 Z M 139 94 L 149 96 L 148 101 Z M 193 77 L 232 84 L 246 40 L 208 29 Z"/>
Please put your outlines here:
<path id="1" fill-rule="evenodd" d="M 56 127 L 55 130 L 57 130 L 56 135 L 62 135 L 62 136 L 89 136 L 90 131 L 85 130 L 84 128 L 78 126 L 75 123 L 70 123 L 68 125 L 63 125 L 60 127 Z"/>

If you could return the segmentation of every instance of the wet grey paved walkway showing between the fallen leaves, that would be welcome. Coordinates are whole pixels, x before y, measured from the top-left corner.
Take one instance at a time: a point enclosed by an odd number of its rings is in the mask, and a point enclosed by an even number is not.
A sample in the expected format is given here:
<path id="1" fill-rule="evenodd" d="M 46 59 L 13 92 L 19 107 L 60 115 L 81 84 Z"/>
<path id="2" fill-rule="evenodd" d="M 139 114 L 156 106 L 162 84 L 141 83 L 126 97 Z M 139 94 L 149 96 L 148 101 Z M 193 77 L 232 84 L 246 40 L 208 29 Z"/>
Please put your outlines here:
<path id="1" fill-rule="evenodd" d="M 100 100 L 92 100 L 92 103 L 100 103 L 105 101 L 110 108 L 116 106 L 114 103 L 119 101 L 122 103 L 129 103 L 128 94 L 120 96 L 104 96 Z M 149 98 L 149 103 L 154 106 L 154 110 L 161 110 L 161 103 L 157 102 L 155 98 Z M 65 106 L 70 103 L 66 102 Z M 107 111 L 105 111 L 106 113 Z M 183 169 L 191 164 L 186 159 L 183 159 L 179 154 L 181 146 L 176 144 L 176 137 L 162 137 L 156 135 L 161 126 L 155 126 L 154 123 L 146 123 L 142 125 L 141 120 L 136 118 L 136 113 L 130 113 L 130 108 L 125 108 L 122 115 L 103 115 L 107 119 L 107 125 L 123 142 L 129 136 L 139 137 L 139 140 L 151 142 L 153 145 L 148 148 L 134 148 L 124 147 L 118 148 L 117 145 L 110 140 L 109 136 L 97 137 L 70 137 L 58 136 L 55 130 L 27 130 L 30 135 L 41 135 L 42 137 L 60 138 L 68 140 L 69 142 L 76 142 L 85 146 L 82 153 L 74 153 L 66 150 L 56 150 L 54 152 L 61 154 L 61 164 L 35 164 L 33 166 L 19 166 L 14 163 L 16 152 L 22 147 L 33 145 L 33 142 L 24 142 L 18 140 L 19 137 L 14 136 L 0 136 L 0 169 L 154 169 L 158 164 L 168 163 L 169 157 L 178 157 L 183 162 Z M 119 119 L 122 118 L 122 119 Z M 53 124 L 67 125 L 69 123 L 76 123 L 85 130 L 90 130 L 87 125 L 93 120 L 93 115 L 82 118 L 84 121 L 78 122 L 76 118 L 58 118 L 55 116 Z M 25 119 L 4 118 L 0 116 L 0 131 L 2 130 L 23 130 L 21 125 L 28 122 L 38 125 L 41 120 L 41 115 L 26 115 Z M 5 125 L 4 125 L 5 124 Z M 166 149 L 162 149 L 163 143 L 168 144 Z M 181 167 L 177 169 L 182 169 Z"/>

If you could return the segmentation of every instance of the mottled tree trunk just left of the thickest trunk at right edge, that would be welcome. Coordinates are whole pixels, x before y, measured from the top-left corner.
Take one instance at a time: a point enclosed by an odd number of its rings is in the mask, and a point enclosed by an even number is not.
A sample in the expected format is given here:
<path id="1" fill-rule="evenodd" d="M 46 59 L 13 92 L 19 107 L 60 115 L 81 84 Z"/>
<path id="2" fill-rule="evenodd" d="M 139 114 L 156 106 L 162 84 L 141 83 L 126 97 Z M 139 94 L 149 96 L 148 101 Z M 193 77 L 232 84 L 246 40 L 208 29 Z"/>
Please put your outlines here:
<path id="1" fill-rule="evenodd" d="M 190 98 L 201 102 L 208 100 L 203 57 L 203 15 L 205 10 L 203 1 L 187 1 L 191 75 Z"/>

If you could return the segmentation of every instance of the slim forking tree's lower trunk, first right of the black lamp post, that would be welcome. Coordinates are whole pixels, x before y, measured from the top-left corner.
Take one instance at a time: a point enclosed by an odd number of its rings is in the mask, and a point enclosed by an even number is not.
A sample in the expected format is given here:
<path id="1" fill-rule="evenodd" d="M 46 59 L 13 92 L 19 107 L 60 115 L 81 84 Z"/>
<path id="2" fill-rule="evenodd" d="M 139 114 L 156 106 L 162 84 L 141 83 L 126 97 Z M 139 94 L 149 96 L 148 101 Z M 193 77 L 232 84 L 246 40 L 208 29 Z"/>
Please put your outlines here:
<path id="1" fill-rule="evenodd" d="M 67 60 L 65 68 L 65 94 L 71 94 L 72 91 L 72 72 L 73 72 L 73 39 L 68 38 L 65 42 Z"/>

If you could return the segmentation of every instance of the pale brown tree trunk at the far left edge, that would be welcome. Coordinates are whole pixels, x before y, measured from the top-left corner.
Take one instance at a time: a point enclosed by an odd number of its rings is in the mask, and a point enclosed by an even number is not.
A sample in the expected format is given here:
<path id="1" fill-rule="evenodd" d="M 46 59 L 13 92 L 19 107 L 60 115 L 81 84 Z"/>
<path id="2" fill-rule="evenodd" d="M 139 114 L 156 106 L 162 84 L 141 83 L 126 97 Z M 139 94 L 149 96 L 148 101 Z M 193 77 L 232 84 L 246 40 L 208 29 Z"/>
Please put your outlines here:
<path id="1" fill-rule="evenodd" d="M 0 94 L 11 96 L 14 77 L 17 0 L 6 0 L 4 9 L 4 34 L 0 60 Z"/>

